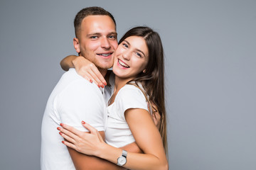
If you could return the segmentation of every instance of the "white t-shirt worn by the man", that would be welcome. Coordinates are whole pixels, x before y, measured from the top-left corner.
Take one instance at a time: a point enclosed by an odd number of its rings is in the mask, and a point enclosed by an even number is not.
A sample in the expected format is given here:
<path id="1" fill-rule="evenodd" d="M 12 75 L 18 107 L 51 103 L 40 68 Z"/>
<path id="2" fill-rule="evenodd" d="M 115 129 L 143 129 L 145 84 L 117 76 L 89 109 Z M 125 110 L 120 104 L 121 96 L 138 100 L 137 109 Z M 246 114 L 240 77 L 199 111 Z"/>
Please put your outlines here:
<path id="1" fill-rule="evenodd" d="M 103 90 L 70 69 L 61 77 L 50 94 L 41 129 L 41 169 L 75 169 L 63 137 L 57 127 L 65 123 L 81 131 L 90 123 L 98 131 L 105 130 L 107 106 Z"/>

